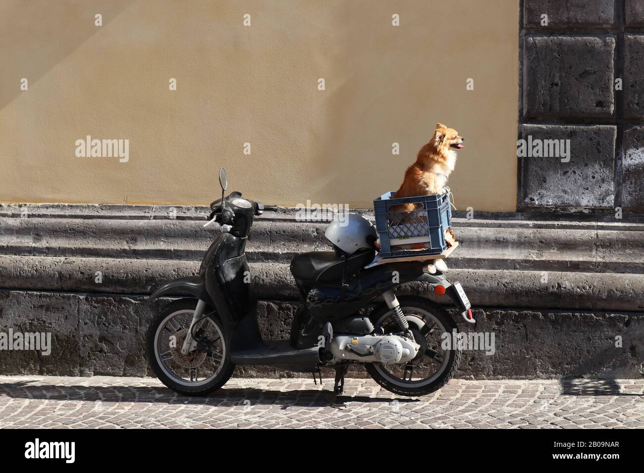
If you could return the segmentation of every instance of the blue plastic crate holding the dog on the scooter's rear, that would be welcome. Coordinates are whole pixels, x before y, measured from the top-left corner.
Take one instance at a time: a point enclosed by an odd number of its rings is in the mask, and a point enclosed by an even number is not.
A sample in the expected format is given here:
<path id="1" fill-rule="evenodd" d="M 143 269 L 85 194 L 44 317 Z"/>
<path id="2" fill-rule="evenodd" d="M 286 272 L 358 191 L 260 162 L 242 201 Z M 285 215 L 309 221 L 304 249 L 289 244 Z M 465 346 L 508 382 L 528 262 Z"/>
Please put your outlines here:
<path id="1" fill-rule="evenodd" d="M 450 189 L 431 196 L 392 198 L 387 192 L 374 200 L 375 228 L 380 237 L 380 257 L 439 255 L 448 245 L 445 232 L 451 228 Z M 405 203 L 417 204 L 410 212 L 393 208 Z M 426 243 L 422 250 L 402 249 L 400 245 Z M 398 246 L 398 248 L 396 248 Z"/>

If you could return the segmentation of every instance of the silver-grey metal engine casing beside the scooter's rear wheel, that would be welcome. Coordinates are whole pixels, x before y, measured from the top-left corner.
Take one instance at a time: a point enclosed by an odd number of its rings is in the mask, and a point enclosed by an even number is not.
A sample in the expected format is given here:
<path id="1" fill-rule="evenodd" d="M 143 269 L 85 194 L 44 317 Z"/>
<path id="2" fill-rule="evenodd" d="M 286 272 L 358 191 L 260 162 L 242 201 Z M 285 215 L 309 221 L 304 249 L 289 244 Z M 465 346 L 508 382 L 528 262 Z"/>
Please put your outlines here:
<path id="1" fill-rule="evenodd" d="M 420 348 L 413 339 L 397 335 L 337 335 L 330 343 L 334 362 L 355 360 L 387 365 L 413 360 Z"/>

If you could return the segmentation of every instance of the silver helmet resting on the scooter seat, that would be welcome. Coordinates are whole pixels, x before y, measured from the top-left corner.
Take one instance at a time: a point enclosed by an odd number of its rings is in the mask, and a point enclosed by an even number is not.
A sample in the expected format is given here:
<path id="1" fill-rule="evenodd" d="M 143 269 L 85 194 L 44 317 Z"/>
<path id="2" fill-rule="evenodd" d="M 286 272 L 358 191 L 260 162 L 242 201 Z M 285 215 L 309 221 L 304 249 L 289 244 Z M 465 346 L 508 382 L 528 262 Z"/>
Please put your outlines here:
<path id="1" fill-rule="evenodd" d="M 327 227 L 324 236 L 347 254 L 360 248 L 374 248 L 378 234 L 370 221 L 359 214 L 338 214 Z M 369 238 L 369 237 L 372 238 Z M 370 241 L 372 239 L 372 241 Z"/>

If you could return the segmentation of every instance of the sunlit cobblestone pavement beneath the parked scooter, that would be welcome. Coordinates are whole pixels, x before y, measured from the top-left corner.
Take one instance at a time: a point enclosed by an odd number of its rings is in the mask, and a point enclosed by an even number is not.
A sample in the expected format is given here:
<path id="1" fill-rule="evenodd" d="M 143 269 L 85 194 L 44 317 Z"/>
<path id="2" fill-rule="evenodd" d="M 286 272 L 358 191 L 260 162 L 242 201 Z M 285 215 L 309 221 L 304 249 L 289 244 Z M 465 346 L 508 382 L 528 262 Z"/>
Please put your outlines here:
<path id="1" fill-rule="evenodd" d="M 0 376 L 0 427 L 644 427 L 641 380 L 452 380 L 403 398 L 347 379 L 342 403 L 312 380 L 232 378 L 207 398 L 155 378 Z"/>

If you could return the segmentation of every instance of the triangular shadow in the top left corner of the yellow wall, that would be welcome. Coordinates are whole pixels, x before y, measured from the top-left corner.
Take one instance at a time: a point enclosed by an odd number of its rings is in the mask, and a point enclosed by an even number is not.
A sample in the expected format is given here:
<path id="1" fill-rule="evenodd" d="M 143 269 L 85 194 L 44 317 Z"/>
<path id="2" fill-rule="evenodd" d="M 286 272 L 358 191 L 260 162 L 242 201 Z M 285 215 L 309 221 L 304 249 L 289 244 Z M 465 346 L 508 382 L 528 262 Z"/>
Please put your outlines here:
<path id="1" fill-rule="evenodd" d="M 137 0 L 3 0 L 0 4 L 0 109 L 100 32 Z M 96 26 L 95 15 L 102 15 Z M 38 28 L 34 28 L 34 26 Z M 9 28 L 10 26 L 10 28 Z M 19 38 L 15 37 L 19 32 Z M 62 33 L 61 33 L 62 32 Z M 11 37 L 10 37 L 11 35 Z M 20 44 L 20 48 L 12 47 Z"/>

